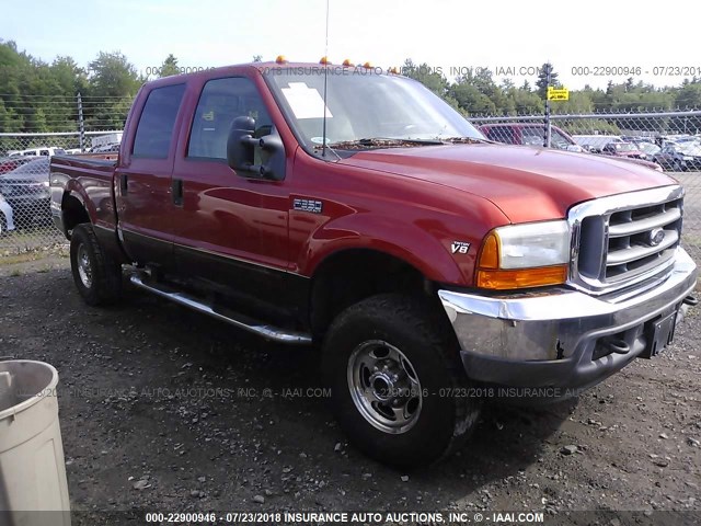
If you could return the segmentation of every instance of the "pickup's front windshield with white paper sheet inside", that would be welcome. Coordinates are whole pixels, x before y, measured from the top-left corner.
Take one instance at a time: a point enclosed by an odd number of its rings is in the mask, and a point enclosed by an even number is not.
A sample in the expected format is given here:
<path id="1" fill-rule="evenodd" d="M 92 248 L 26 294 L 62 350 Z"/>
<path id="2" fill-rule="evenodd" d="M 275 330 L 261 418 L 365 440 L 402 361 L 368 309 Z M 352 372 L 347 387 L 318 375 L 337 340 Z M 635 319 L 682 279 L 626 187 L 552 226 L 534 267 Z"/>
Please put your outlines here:
<path id="1" fill-rule="evenodd" d="M 330 68 L 326 96 L 326 145 L 364 148 L 418 146 L 484 136 L 420 82 L 403 77 Z M 323 145 L 323 67 L 290 67 L 265 73 L 268 85 L 308 149 Z M 422 142 L 425 141 L 425 142 Z"/>

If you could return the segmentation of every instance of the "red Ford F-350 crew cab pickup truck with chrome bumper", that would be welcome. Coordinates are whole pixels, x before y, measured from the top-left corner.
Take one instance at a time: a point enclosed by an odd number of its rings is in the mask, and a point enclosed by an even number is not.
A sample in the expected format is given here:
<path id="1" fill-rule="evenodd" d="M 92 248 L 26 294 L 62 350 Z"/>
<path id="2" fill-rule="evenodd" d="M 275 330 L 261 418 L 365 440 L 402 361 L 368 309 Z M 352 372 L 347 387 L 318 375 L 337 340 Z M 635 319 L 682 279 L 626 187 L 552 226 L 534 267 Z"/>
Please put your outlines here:
<path id="1" fill-rule="evenodd" d="M 459 447 L 484 398 L 576 396 L 654 356 L 696 302 L 674 180 L 493 144 L 369 68 L 149 82 L 118 156 L 55 157 L 50 187 L 88 304 L 129 265 L 145 290 L 318 344 L 343 428 L 395 466 Z"/>

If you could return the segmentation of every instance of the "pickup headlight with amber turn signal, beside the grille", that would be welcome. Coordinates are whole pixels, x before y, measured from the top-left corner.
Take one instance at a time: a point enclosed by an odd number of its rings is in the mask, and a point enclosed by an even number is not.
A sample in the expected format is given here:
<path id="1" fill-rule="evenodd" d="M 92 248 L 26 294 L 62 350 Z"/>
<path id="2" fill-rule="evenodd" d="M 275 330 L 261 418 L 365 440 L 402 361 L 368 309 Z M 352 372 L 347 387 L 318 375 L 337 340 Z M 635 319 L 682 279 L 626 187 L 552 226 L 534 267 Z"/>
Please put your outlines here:
<path id="1" fill-rule="evenodd" d="M 567 221 L 499 227 L 482 243 L 476 286 L 507 290 L 559 285 L 567 279 L 568 263 Z"/>

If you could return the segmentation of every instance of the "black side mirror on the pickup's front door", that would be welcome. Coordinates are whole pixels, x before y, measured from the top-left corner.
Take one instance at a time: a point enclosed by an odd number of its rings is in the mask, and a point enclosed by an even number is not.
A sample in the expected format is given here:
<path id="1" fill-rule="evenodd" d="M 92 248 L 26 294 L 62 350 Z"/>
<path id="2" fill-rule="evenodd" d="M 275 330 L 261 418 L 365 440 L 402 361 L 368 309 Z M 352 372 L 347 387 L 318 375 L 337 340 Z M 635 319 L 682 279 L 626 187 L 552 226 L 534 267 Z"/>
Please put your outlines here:
<path id="1" fill-rule="evenodd" d="M 265 134 L 265 135 L 264 135 Z M 237 117 L 227 139 L 227 161 L 242 176 L 285 179 L 285 146 L 275 126 L 255 129 L 255 119 Z M 245 172 L 245 173 L 244 173 Z"/>

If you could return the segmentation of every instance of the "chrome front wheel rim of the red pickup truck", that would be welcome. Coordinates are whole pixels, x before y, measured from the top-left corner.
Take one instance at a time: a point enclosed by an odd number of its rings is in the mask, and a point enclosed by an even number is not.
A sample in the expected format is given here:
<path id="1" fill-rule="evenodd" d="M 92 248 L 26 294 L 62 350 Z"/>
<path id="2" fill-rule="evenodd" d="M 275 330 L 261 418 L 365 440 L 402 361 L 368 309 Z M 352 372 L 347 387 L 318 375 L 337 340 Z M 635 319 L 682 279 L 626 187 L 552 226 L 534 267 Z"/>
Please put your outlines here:
<path id="1" fill-rule="evenodd" d="M 347 379 L 353 403 L 374 427 L 401 434 L 418 421 L 421 382 L 412 363 L 395 346 L 382 340 L 358 345 L 348 359 Z"/>

